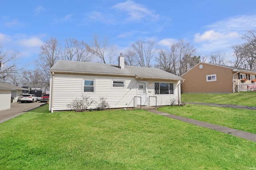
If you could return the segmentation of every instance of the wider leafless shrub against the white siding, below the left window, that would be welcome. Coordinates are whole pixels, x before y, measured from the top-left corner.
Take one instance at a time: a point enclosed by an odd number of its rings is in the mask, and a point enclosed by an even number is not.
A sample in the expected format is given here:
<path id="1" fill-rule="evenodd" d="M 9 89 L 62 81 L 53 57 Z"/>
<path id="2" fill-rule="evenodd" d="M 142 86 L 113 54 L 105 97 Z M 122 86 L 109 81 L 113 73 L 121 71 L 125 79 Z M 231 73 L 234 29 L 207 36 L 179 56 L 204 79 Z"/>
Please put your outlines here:
<path id="1" fill-rule="evenodd" d="M 94 102 L 94 100 L 90 99 L 88 96 L 82 95 L 82 98 L 76 98 L 72 101 L 71 104 L 68 104 L 68 108 L 73 109 L 75 112 L 82 112 L 86 111 L 86 109 L 91 106 L 91 104 Z"/>

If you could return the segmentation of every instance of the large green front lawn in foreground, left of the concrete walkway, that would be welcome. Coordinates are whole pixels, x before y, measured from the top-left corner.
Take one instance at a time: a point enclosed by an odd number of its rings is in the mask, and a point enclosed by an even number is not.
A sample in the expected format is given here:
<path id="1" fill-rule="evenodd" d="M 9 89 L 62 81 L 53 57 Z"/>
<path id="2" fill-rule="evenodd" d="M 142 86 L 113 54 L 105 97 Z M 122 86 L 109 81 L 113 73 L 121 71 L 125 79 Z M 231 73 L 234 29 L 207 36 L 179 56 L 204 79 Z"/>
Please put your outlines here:
<path id="1" fill-rule="evenodd" d="M 0 169 L 256 167 L 255 142 L 148 111 L 47 109 L 42 106 L 0 124 Z"/>

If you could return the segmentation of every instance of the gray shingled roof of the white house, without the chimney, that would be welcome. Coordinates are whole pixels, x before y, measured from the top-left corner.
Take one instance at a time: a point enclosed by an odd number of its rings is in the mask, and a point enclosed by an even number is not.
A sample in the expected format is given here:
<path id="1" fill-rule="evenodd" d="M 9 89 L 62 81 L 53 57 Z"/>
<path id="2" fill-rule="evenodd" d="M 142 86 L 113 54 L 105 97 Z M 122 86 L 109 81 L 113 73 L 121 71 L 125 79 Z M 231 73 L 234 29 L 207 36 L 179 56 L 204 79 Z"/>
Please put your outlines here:
<path id="1" fill-rule="evenodd" d="M 122 75 L 122 76 L 136 76 L 136 78 L 150 78 L 150 79 L 172 79 L 184 80 L 183 78 L 160 70 L 158 68 L 148 68 L 139 66 L 124 66 L 120 69 L 115 64 L 104 63 L 89 63 L 82 61 L 66 61 L 58 60 L 50 72 L 74 72 L 86 74 L 105 74 L 105 75 Z"/>

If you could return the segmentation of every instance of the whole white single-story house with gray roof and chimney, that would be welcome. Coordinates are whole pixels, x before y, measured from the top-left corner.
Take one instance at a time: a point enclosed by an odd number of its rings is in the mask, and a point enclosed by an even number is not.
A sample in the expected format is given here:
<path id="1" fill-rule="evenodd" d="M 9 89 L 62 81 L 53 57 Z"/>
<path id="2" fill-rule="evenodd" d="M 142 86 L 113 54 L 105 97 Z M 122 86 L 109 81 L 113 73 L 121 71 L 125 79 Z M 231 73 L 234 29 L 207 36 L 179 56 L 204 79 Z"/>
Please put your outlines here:
<path id="1" fill-rule="evenodd" d="M 110 108 L 170 105 L 180 102 L 182 78 L 158 68 L 125 66 L 120 56 L 119 65 L 58 60 L 50 68 L 49 110 L 68 110 L 82 95 L 95 102 L 106 98 Z M 141 102 L 140 98 L 141 97 Z"/>

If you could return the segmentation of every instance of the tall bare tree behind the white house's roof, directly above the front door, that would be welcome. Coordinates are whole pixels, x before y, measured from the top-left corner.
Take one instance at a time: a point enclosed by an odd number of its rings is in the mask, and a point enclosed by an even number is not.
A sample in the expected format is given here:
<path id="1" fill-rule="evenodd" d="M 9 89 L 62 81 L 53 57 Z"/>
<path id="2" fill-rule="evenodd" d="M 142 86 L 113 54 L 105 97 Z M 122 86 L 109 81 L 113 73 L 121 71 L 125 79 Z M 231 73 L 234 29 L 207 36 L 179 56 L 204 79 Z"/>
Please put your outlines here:
<path id="1" fill-rule="evenodd" d="M 132 44 L 132 48 L 135 51 L 135 58 L 138 65 L 142 67 L 150 67 L 150 62 L 154 54 L 158 51 L 156 42 L 153 40 L 148 40 L 147 42 L 138 40 L 136 43 Z"/>

